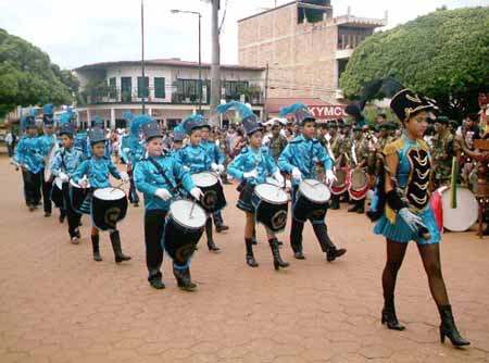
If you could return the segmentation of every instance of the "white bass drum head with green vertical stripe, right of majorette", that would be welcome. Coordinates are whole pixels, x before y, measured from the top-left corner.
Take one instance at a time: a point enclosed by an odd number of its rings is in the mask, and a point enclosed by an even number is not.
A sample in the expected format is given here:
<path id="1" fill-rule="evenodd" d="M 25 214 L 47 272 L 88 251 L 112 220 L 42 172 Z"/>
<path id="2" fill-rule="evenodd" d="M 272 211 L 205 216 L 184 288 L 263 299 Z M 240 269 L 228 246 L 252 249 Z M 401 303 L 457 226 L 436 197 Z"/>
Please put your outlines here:
<path id="1" fill-rule="evenodd" d="M 456 187 L 456 208 L 451 206 L 451 188 L 442 190 L 443 227 L 452 231 L 464 231 L 477 222 L 478 203 L 471 190 Z"/>

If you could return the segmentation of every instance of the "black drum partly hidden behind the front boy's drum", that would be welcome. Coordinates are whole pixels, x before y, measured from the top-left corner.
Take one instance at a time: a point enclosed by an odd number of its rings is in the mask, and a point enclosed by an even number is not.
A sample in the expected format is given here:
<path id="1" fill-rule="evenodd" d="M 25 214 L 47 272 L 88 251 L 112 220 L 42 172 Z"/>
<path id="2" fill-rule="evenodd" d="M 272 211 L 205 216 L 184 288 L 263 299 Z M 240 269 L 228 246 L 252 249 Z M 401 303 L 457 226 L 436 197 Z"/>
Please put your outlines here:
<path id="1" fill-rule="evenodd" d="M 200 205 L 205 212 L 214 213 L 226 206 L 223 186 L 217 176 L 210 172 L 203 172 L 192 175 L 193 184 L 202 190 L 203 197 L 200 199 Z"/>

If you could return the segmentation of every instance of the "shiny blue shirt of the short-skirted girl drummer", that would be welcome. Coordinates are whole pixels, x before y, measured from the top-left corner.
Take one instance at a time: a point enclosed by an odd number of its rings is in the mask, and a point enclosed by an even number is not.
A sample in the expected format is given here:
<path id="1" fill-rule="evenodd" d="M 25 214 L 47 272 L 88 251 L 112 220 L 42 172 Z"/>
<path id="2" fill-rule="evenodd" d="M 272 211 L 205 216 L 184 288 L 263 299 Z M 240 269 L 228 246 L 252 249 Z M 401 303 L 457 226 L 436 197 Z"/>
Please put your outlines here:
<path id="1" fill-rule="evenodd" d="M 246 147 L 227 166 L 227 172 L 236 179 L 242 180 L 243 174 L 251 172 L 253 168 L 258 171 L 258 177 L 250 180 L 252 185 L 259 185 L 266 182 L 266 177 L 277 172 L 277 165 L 267 147 L 261 147 L 255 150 Z"/>

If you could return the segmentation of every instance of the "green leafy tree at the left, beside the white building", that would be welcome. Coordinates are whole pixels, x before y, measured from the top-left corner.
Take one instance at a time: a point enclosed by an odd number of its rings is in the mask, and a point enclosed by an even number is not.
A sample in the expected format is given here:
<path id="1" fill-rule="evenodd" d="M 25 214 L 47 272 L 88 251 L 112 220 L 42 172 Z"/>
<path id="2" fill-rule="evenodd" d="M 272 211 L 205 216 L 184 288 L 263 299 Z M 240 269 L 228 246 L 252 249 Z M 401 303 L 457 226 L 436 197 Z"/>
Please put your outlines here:
<path id="1" fill-rule="evenodd" d="M 72 103 L 78 82 L 26 40 L 0 28 L 0 116 L 16 105 Z"/>

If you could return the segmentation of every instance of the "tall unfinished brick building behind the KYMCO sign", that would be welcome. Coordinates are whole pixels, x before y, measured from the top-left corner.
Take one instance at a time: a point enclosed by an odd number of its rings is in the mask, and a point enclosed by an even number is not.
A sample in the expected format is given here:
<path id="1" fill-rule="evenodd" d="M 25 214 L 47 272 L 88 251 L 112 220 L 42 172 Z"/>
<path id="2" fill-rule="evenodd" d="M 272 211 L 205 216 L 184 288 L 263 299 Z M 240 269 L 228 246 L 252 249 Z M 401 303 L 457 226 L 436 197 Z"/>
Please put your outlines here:
<path id="1" fill-rule="evenodd" d="M 238 22 L 239 64 L 268 67 L 267 104 L 305 98 L 335 105 L 342 101 L 338 80 L 353 50 L 386 24 L 335 17 L 330 0 L 291 1 Z"/>

